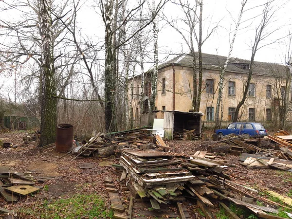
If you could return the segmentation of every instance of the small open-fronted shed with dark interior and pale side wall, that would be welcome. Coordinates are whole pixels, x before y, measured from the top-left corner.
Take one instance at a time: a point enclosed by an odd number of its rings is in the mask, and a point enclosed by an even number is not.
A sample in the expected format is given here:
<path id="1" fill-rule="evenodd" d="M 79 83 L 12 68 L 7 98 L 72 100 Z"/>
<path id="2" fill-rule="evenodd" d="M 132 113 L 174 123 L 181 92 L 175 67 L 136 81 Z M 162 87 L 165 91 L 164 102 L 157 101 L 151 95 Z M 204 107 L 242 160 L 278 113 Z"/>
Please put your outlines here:
<path id="1" fill-rule="evenodd" d="M 201 112 L 182 112 L 177 110 L 164 111 L 164 137 L 172 139 L 174 132 L 195 130 L 196 135 L 201 135 Z"/>

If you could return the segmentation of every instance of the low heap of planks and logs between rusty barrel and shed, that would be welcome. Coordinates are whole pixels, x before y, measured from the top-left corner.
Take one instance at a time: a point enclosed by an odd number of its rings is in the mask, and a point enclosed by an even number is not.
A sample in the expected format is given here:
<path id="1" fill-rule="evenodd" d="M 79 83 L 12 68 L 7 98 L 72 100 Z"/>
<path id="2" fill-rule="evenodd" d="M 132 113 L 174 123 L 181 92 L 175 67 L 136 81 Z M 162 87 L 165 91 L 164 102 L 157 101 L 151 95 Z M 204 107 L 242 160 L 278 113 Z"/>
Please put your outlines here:
<path id="1" fill-rule="evenodd" d="M 73 148 L 73 155 L 95 156 L 98 158 L 110 157 L 115 154 L 116 149 L 121 148 L 163 148 L 168 151 L 169 146 L 165 144 L 159 135 L 152 135 L 148 130 L 150 127 L 133 128 L 130 130 L 104 134 L 99 132 L 92 135 L 91 139 L 84 145 Z"/>

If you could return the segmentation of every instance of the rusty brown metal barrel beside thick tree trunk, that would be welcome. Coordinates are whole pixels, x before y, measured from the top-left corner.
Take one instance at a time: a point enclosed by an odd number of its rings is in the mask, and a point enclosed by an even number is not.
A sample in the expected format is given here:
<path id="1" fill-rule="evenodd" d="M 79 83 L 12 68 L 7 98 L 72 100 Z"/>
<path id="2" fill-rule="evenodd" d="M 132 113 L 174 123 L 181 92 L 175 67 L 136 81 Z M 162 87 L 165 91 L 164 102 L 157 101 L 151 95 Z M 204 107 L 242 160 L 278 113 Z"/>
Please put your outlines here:
<path id="1" fill-rule="evenodd" d="M 73 126 L 59 124 L 56 127 L 56 151 L 68 152 L 73 148 Z"/>

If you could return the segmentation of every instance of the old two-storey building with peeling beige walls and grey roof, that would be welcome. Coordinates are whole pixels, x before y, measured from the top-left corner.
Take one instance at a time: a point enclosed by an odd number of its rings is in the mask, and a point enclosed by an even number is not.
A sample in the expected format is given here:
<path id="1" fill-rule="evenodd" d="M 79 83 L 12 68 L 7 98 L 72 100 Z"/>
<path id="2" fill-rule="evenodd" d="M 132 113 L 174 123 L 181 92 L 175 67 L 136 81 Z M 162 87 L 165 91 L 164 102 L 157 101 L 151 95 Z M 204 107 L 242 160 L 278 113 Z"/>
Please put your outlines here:
<path id="1" fill-rule="evenodd" d="M 203 54 L 203 76 L 200 111 L 202 120 L 212 125 L 218 97 L 219 72 L 226 57 Z M 159 66 L 155 110 L 179 110 L 193 112 L 193 57 L 179 55 Z M 232 121 L 237 103 L 243 95 L 250 68 L 250 61 L 231 58 L 225 72 L 223 84 L 223 121 Z M 198 72 L 198 71 L 197 71 Z M 284 65 L 255 62 L 248 98 L 239 112 L 240 121 L 272 121 L 278 118 L 279 107 L 285 91 L 288 69 Z M 145 73 L 144 109 L 148 111 L 151 91 L 151 71 Z M 136 125 L 140 121 L 141 75 L 132 78 L 129 100 Z"/>

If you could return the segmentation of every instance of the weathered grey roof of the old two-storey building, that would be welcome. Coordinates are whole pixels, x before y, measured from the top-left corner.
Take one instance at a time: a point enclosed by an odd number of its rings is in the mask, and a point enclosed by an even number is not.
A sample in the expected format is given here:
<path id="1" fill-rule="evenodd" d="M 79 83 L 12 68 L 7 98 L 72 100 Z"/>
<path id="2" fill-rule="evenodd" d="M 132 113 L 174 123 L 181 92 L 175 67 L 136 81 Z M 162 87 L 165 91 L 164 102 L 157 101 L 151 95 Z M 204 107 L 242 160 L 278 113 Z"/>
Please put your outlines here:
<path id="1" fill-rule="evenodd" d="M 196 57 L 198 57 L 197 52 Z M 223 67 L 225 60 L 226 56 L 202 53 L 203 69 L 219 70 L 221 67 Z M 198 58 L 196 61 L 197 64 L 199 64 Z M 171 65 L 192 67 L 193 56 L 190 54 L 178 55 L 175 58 L 166 61 L 164 64 L 159 65 L 158 69 L 164 69 Z M 249 65 L 250 60 L 231 57 L 229 59 L 226 71 L 235 73 L 248 73 Z M 254 62 L 253 74 L 286 77 L 286 71 L 287 67 L 285 65 L 272 64 L 267 62 Z"/>

